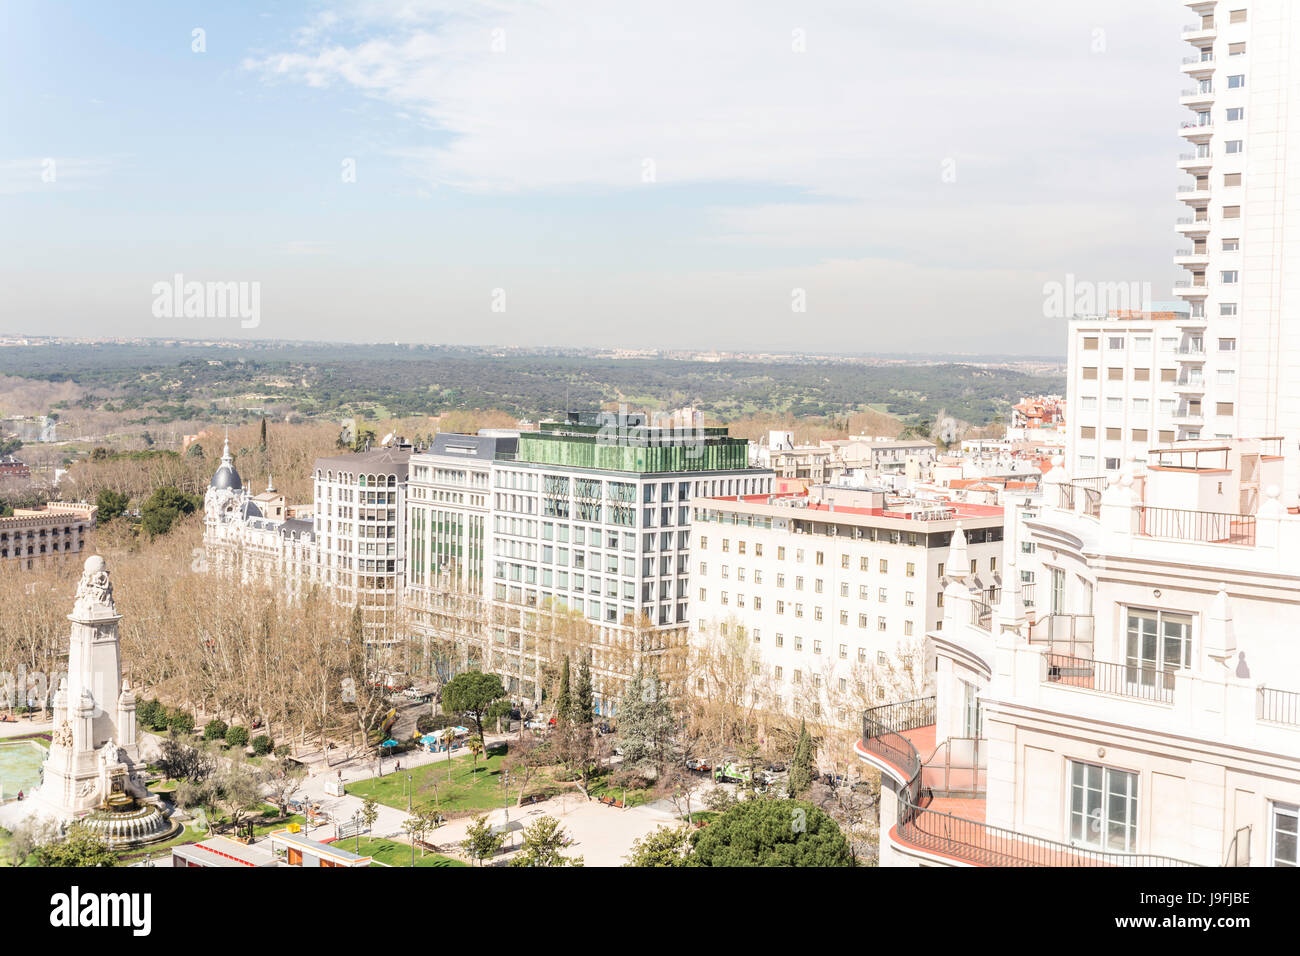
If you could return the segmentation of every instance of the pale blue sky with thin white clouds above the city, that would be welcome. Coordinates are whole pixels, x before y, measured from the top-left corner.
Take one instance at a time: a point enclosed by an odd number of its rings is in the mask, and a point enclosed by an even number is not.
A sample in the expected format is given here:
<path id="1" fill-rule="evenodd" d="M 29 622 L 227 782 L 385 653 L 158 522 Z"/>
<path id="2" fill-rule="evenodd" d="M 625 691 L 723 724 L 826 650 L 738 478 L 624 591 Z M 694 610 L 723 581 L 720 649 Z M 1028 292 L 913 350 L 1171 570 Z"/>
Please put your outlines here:
<path id="1" fill-rule="evenodd" d="M 1186 20 L 4 0 L 0 334 L 1063 355 L 1170 298 Z"/>

